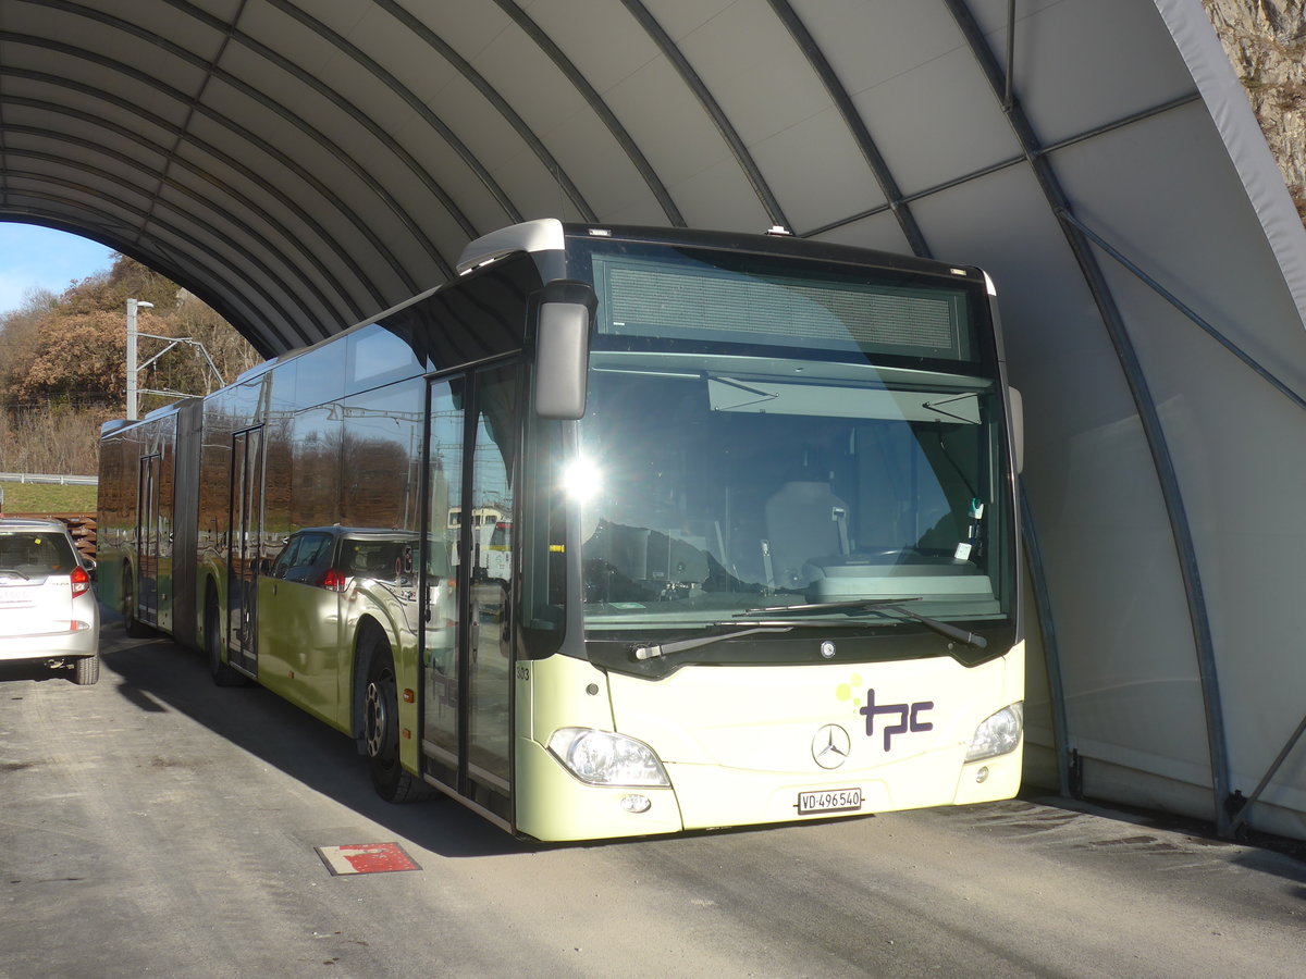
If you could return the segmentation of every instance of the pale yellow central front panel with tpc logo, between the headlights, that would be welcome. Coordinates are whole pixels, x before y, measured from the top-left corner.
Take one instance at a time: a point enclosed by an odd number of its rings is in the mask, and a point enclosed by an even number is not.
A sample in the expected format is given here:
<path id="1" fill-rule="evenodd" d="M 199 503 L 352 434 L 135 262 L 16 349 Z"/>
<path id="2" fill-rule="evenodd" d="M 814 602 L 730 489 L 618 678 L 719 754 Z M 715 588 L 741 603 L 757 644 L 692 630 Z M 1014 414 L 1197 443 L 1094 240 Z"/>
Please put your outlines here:
<path id="1" fill-rule="evenodd" d="M 818 790 L 861 788 L 861 812 L 1010 798 L 1021 752 L 973 764 L 989 769 L 982 785 L 965 753 L 985 718 L 1023 698 L 1023 645 L 970 668 L 948 657 L 686 667 L 658 683 L 613 675 L 613 713 L 658 753 L 686 829 L 780 822 Z M 815 756 L 831 724 L 849 748 L 827 769 Z"/>

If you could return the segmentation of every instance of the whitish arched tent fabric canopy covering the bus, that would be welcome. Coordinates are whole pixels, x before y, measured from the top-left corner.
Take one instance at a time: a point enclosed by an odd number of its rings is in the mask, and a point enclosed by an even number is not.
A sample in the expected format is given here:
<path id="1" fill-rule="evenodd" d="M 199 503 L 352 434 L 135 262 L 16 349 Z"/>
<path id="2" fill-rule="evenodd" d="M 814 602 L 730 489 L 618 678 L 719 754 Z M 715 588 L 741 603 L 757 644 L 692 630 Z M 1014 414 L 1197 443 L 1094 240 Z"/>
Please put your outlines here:
<path id="1" fill-rule="evenodd" d="M 1030 774 L 1306 837 L 1306 232 L 1199 0 L 0 0 L 0 218 L 266 354 L 538 217 L 983 266 Z"/>

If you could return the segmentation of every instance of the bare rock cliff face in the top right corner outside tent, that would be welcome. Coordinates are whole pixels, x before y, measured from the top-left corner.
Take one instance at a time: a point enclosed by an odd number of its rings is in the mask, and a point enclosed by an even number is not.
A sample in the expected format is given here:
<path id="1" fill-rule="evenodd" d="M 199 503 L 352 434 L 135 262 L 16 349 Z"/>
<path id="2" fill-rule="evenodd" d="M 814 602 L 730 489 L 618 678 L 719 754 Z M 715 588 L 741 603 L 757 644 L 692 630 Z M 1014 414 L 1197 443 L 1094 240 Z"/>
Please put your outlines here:
<path id="1" fill-rule="evenodd" d="M 1202 0 L 1306 221 L 1306 0 Z"/>

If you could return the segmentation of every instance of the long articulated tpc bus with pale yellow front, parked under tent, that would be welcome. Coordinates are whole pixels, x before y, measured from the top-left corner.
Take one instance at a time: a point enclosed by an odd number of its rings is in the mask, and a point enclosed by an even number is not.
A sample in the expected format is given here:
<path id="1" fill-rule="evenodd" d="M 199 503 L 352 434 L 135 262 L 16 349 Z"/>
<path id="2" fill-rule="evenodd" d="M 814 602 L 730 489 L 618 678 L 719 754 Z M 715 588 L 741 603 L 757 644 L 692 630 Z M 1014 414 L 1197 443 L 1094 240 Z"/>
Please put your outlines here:
<path id="1" fill-rule="evenodd" d="M 1020 409 L 982 272 L 554 219 L 458 269 L 104 427 L 129 630 L 345 732 L 385 799 L 542 841 L 1016 792 Z"/>

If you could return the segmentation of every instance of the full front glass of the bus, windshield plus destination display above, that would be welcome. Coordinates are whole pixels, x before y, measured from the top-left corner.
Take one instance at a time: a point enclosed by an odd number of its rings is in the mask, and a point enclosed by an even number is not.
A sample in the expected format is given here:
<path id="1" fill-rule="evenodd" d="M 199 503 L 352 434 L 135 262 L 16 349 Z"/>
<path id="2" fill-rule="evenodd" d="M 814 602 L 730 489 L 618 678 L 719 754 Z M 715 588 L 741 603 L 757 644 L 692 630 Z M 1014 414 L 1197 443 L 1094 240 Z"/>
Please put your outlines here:
<path id="1" fill-rule="evenodd" d="M 759 608 L 846 620 L 866 599 L 1010 615 L 1002 392 L 973 283 L 639 245 L 592 265 L 567 475 L 586 636 Z"/>

